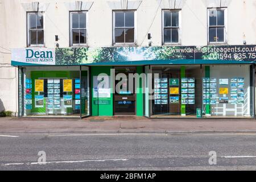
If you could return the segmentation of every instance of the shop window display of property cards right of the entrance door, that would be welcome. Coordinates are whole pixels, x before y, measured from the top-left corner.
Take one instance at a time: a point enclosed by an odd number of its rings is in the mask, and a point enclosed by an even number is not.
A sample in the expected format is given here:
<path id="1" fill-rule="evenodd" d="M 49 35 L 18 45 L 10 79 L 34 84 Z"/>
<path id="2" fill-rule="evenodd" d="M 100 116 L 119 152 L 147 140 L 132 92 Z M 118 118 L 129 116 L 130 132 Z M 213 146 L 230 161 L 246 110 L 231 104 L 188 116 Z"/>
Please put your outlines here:
<path id="1" fill-rule="evenodd" d="M 152 65 L 151 117 L 251 117 L 253 65 Z M 200 113 L 199 113 L 200 112 Z"/>

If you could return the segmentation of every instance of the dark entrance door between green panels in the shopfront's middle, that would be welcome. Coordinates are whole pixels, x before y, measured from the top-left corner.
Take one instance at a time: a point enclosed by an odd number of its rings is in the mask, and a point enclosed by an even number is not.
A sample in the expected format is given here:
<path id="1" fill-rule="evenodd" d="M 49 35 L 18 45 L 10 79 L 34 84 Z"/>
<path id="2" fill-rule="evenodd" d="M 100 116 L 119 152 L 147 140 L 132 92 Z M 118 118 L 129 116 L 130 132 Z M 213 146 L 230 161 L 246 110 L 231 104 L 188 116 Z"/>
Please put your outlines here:
<path id="1" fill-rule="evenodd" d="M 133 85 L 129 86 L 129 73 L 136 73 L 136 68 L 115 67 L 115 76 L 118 76 L 118 73 L 126 76 L 126 78 L 125 80 L 122 80 L 122 78 L 115 80 L 114 115 L 135 115 L 135 79 L 133 80 Z M 118 84 L 119 81 L 123 81 L 121 85 Z M 120 88 L 121 90 L 118 91 L 116 88 Z"/>

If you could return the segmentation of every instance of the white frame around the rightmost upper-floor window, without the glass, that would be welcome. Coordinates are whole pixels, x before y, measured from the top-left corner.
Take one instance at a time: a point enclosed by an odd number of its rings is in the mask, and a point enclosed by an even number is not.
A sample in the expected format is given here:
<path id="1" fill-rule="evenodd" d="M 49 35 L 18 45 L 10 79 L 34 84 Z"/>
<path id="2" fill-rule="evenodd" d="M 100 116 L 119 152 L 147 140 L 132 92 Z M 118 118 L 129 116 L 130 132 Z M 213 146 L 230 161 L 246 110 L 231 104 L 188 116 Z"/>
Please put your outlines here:
<path id="1" fill-rule="evenodd" d="M 210 16 L 209 16 L 209 12 L 210 10 L 224 10 L 224 41 L 223 42 L 210 42 L 209 39 L 209 28 L 210 28 Z M 228 31 L 228 13 L 227 13 L 228 9 L 226 7 L 214 7 L 214 8 L 208 8 L 207 9 L 207 43 L 208 44 L 226 44 L 228 42 L 227 38 L 227 31 Z M 212 26 L 212 27 L 218 27 L 218 26 Z M 223 27 L 223 26 L 220 26 Z"/>

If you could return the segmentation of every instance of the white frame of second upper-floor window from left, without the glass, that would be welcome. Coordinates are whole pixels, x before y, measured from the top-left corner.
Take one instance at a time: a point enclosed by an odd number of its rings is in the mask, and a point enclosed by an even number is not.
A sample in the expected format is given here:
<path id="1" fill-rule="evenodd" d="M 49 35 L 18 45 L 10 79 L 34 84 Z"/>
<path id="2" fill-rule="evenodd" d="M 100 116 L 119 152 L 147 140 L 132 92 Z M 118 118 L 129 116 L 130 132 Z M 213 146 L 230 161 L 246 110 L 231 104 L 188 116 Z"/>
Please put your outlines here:
<path id="1" fill-rule="evenodd" d="M 85 28 L 72 28 L 72 14 L 75 14 L 75 13 L 85 13 L 86 15 L 86 18 L 85 18 L 85 25 L 86 27 Z M 69 11 L 69 44 L 71 47 L 84 47 L 84 46 L 88 46 L 88 11 Z M 86 43 L 82 43 L 82 44 L 73 44 L 73 36 L 72 36 L 72 30 L 73 29 L 77 29 L 77 30 L 80 30 L 80 29 L 85 29 L 86 31 Z M 79 38 L 80 39 L 80 38 Z M 80 42 L 80 40 L 79 40 Z"/>

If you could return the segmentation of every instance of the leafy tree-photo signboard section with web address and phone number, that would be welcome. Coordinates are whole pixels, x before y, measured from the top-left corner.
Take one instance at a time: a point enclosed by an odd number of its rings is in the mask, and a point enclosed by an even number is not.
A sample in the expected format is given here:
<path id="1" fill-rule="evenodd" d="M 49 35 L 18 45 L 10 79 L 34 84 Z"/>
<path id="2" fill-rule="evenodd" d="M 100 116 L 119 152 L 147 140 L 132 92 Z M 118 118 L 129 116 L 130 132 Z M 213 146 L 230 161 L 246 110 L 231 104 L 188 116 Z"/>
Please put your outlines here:
<path id="1" fill-rule="evenodd" d="M 254 61 L 256 46 L 56 48 L 56 65 L 147 60 Z"/>

